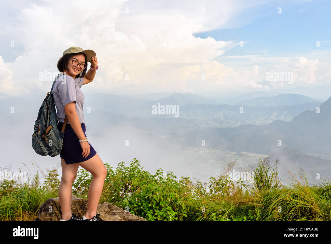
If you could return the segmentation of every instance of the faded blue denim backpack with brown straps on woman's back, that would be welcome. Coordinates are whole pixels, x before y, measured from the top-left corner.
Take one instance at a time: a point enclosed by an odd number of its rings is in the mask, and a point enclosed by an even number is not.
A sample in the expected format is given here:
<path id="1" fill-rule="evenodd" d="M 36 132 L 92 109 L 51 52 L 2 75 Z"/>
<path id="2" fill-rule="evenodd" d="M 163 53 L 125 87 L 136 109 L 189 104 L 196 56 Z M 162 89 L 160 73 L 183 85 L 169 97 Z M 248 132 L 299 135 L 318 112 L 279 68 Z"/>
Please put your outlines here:
<path id="1" fill-rule="evenodd" d="M 55 103 L 53 99 L 53 87 L 57 78 L 63 73 L 59 74 L 54 82 L 50 92 L 47 93 L 46 98 L 39 108 L 38 117 L 34 121 L 34 128 L 32 134 L 32 148 L 34 151 L 42 156 L 47 154 L 51 157 L 57 156 L 61 153 L 63 145 L 64 130 L 67 124 L 67 115 L 64 119 L 62 130 L 57 128 L 58 119 L 56 117 Z"/>

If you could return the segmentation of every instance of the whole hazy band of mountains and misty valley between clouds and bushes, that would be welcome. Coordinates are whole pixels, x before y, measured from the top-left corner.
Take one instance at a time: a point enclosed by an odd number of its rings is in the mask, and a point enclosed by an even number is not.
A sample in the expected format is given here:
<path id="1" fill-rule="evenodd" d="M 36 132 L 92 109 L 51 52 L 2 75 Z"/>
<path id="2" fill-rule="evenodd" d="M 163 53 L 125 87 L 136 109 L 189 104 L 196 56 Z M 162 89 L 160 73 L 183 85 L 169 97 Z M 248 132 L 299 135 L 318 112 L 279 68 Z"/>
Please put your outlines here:
<path id="1" fill-rule="evenodd" d="M 204 171 L 201 165 L 209 165 L 205 174 L 210 174 L 223 159 L 240 156 L 242 162 L 252 162 L 257 157 L 247 153 L 269 153 L 273 160 L 279 157 L 283 171 L 303 167 L 311 180 L 316 173 L 322 177 L 330 172 L 331 97 L 322 102 L 275 92 L 170 93 L 148 94 L 146 99 L 85 93 L 84 117 L 92 144 L 110 161 L 139 154 L 149 165 L 163 160 L 165 165 L 172 163 L 171 167 L 194 174 Z M 46 94 L 0 99 L 1 143 L 8 155 L 4 161 L 47 161 L 36 157 L 31 148 L 32 125 Z M 179 117 L 152 114 L 152 105 L 158 103 L 179 105 Z M 130 147 L 122 146 L 125 140 Z M 15 153 L 16 148 L 22 153 Z"/>

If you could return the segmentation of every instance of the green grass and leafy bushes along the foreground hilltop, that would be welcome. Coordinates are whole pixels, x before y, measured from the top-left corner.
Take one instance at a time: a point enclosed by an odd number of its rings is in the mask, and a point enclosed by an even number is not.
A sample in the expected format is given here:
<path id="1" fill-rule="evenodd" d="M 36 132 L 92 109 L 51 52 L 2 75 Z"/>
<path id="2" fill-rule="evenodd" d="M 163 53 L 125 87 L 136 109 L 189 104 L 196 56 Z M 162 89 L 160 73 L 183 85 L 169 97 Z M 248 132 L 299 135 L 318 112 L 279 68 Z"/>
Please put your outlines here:
<path id="1" fill-rule="evenodd" d="M 277 160 L 260 159 L 252 169 L 254 183 L 232 181 L 226 177 L 236 161 L 229 162 L 223 173 L 210 177 L 208 183 L 177 177 L 160 168 L 151 174 L 133 158 L 130 165 L 118 163 L 108 170 L 99 203 L 110 202 L 131 214 L 149 221 L 330 221 L 331 182 L 308 185 L 303 171 L 299 179 L 284 184 L 278 178 Z M 0 182 L 0 220 L 33 221 L 38 208 L 49 198 L 58 197 L 58 169 L 47 175 L 37 171 L 27 183 L 14 180 Z M 92 175 L 78 170 L 72 194 L 88 197 Z M 30 182 L 31 181 L 31 182 Z M 42 181 L 42 183 L 40 183 Z"/>

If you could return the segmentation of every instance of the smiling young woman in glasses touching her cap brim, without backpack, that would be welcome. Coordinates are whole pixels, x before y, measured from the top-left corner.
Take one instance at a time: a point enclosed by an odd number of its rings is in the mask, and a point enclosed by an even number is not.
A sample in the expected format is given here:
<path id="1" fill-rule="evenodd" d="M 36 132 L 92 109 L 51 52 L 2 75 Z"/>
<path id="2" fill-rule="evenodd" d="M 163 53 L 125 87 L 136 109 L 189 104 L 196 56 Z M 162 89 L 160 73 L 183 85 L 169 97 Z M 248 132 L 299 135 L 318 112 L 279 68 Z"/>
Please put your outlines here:
<path id="1" fill-rule="evenodd" d="M 88 69 L 88 62 L 91 63 Z M 62 177 L 59 187 L 59 200 L 62 219 L 60 221 L 104 221 L 96 214 L 102 193 L 107 169 L 98 153 L 87 141 L 83 114 L 84 94 L 82 85 L 90 83 L 98 69 L 98 60 L 92 50 L 70 47 L 63 52 L 57 67 L 61 72 L 53 89 L 57 109 L 59 131 L 65 123 L 63 146 L 60 153 Z M 88 71 L 87 71 L 88 69 Z M 71 214 L 71 189 L 81 166 L 89 171 L 93 179 L 88 190 L 87 211 L 82 219 Z"/>

